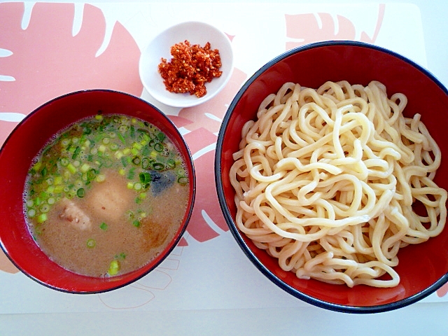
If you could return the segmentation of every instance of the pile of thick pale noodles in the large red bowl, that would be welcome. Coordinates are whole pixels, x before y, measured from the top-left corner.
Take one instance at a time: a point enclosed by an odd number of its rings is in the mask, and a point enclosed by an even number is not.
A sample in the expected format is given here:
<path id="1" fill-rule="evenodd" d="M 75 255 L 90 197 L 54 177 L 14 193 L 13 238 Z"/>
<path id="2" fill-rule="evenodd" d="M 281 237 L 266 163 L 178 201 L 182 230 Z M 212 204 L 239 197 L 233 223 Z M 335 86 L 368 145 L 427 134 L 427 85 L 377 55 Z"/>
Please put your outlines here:
<path id="1" fill-rule="evenodd" d="M 447 218 L 440 149 L 406 104 L 377 81 L 285 83 L 266 97 L 230 169 L 239 230 L 301 279 L 397 286 L 398 250 Z"/>

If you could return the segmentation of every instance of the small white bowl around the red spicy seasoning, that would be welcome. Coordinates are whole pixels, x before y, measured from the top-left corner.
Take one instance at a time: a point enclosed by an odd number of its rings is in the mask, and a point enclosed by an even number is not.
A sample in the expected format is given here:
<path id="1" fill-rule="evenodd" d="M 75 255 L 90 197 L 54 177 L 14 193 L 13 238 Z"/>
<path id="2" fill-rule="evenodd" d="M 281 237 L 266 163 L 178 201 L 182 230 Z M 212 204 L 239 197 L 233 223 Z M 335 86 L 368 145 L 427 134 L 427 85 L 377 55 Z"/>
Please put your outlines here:
<path id="1" fill-rule="evenodd" d="M 173 93 L 165 88 L 162 76 L 158 72 L 158 65 L 162 57 L 169 62 L 172 59 L 170 48 L 172 45 L 184 41 L 190 44 L 199 44 L 202 47 L 210 42 L 211 49 L 218 49 L 221 55 L 220 77 L 214 78 L 210 83 L 206 83 L 207 94 L 204 97 L 196 97 L 189 93 Z M 233 52 L 230 39 L 227 35 L 214 26 L 204 22 L 183 22 L 179 25 L 162 31 L 151 41 L 141 52 L 139 62 L 139 73 L 141 82 L 151 96 L 159 102 L 168 106 L 190 107 L 207 102 L 220 92 L 228 83 L 233 69 Z"/>

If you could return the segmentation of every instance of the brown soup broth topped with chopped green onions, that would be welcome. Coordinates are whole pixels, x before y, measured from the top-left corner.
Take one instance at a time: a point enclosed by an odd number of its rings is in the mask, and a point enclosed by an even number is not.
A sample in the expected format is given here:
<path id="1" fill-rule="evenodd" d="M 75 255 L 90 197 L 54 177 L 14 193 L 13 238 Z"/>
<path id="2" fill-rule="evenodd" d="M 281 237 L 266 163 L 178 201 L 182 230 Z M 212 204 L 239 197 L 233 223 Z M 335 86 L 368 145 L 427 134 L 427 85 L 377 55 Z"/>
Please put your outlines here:
<path id="1" fill-rule="evenodd" d="M 29 230 L 72 272 L 132 272 L 176 235 L 188 204 L 185 168 L 172 141 L 144 120 L 80 120 L 44 146 L 29 169 Z"/>

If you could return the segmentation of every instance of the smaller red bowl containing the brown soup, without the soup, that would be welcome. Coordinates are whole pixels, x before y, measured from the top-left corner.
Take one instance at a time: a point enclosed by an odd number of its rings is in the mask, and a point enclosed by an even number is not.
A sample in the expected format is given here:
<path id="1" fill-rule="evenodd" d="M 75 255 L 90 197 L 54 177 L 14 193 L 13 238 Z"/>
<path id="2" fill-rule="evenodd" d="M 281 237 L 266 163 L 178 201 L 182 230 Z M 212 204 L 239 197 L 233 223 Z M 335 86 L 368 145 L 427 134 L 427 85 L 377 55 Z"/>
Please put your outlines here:
<path id="1" fill-rule="evenodd" d="M 139 118 L 158 127 L 179 149 L 189 176 L 188 204 L 167 246 L 143 267 L 116 276 L 83 276 L 52 261 L 31 236 L 24 215 L 24 186 L 31 161 L 59 131 L 97 113 Z M 84 90 L 65 94 L 32 111 L 6 139 L 0 152 L 1 248 L 18 269 L 38 283 L 69 293 L 101 293 L 137 281 L 174 249 L 186 230 L 195 201 L 195 169 L 190 151 L 174 124 L 155 106 L 123 92 Z"/>

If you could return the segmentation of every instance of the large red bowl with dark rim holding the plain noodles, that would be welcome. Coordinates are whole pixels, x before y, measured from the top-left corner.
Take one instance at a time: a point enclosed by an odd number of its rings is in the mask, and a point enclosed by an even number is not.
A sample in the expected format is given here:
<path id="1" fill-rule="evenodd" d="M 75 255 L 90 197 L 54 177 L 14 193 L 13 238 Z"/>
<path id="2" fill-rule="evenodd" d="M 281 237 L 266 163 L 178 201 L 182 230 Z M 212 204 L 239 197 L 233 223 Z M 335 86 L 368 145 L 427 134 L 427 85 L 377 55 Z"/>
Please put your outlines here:
<path id="1" fill-rule="evenodd" d="M 286 82 L 317 89 L 326 81 L 347 80 L 351 85 L 384 83 L 388 97 L 407 96 L 404 114 L 421 114 L 421 120 L 442 151 L 435 182 L 448 188 L 448 91 L 435 76 L 410 59 L 391 50 L 351 41 L 327 41 L 295 48 L 272 59 L 249 78 L 232 100 L 218 135 L 215 159 L 218 199 L 233 237 L 253 265 L 286 292 L 318 307 L 349 313 L 389 311 L 417 302 L 434 293 L 448 280 L 448 229 L 422 244 L 400 248 L 398 286 L 376 288 L 299 279 L 279 267 L 278 260 L 255 246 L 237 227 L 235 190 L 229 172 L 239 150 L 241 128 L 256 120 L 260 103 Z"/>

